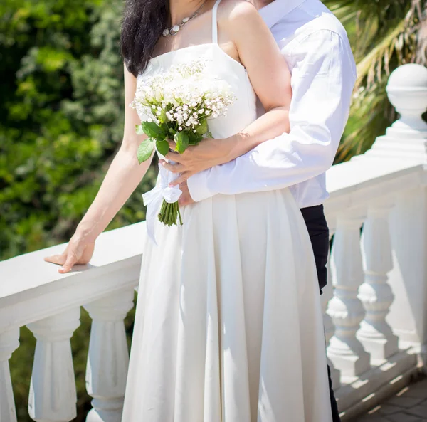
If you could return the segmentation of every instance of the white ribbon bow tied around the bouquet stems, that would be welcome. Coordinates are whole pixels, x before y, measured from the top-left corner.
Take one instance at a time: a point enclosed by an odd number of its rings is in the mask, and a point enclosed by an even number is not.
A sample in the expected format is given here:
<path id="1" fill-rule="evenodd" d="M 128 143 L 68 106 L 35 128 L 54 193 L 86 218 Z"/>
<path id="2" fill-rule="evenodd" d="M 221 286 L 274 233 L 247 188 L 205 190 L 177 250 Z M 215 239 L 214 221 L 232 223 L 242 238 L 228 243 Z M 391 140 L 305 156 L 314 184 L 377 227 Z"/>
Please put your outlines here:
<path id="1" fill-rule="evenodd" d="M 170 164 L 175 164 L 170 162 Z M 168 204 L 173 204 L 178 201 L 179 196 L 181 196 L 182 191 L 177 186 L 169 187 L 169 183 L 174 181 L 178 175 L 172 172 L 169 172 L 161 164 L 159 164 L 159 175 L 160 180 L 159 184 L 154 187 L 151 191 L 142 195 L 144 200 L 144 205 L 147 206 L 147 216 L 145 218 L 147 224 L 147 234 L 148 237 L 154 242 L 157 246 L 156 236 L 154 234 L 154 227 L 159 215 L 160 208 L 162 206 L 163 200 L 167 201 Z"/>

